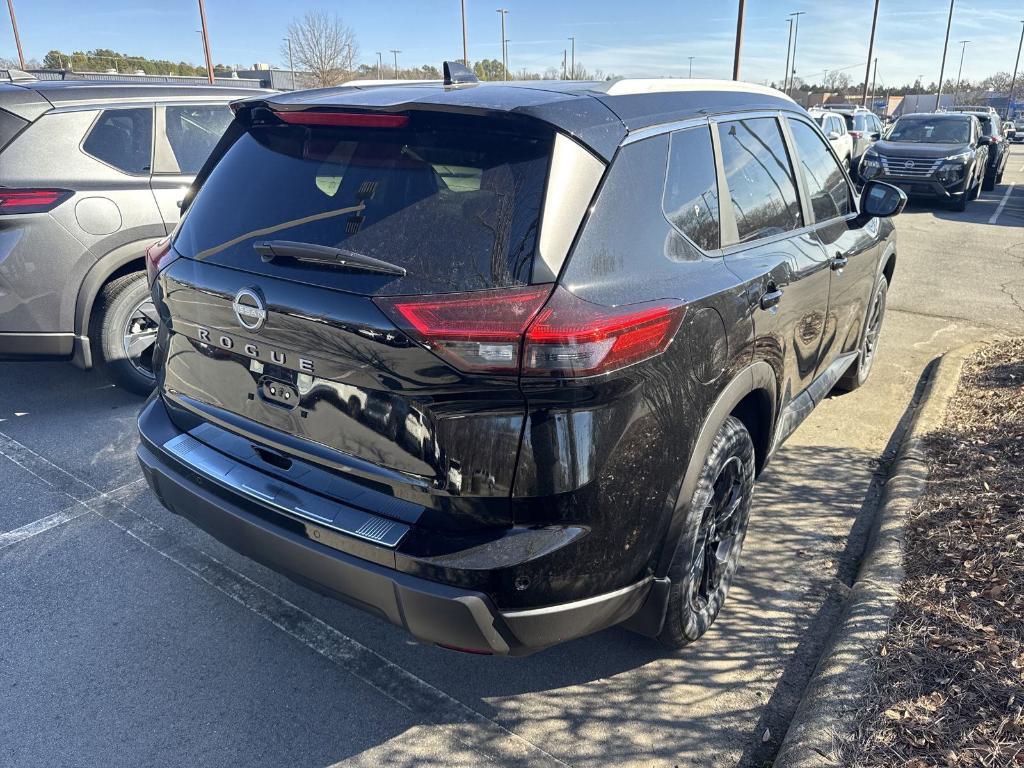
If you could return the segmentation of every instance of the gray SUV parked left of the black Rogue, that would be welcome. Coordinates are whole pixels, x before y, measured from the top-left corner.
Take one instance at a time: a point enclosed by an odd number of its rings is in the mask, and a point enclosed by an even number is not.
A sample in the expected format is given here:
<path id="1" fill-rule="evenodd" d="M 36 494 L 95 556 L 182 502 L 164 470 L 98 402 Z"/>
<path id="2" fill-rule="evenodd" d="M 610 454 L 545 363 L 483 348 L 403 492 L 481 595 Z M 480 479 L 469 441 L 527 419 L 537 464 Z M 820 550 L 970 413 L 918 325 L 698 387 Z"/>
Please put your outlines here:
<path id="1" fill-rule="evenodd" d="M 153 388 L 145 250 L 249 88 L 0 85 L 0 360 L 69 359 Z"/>

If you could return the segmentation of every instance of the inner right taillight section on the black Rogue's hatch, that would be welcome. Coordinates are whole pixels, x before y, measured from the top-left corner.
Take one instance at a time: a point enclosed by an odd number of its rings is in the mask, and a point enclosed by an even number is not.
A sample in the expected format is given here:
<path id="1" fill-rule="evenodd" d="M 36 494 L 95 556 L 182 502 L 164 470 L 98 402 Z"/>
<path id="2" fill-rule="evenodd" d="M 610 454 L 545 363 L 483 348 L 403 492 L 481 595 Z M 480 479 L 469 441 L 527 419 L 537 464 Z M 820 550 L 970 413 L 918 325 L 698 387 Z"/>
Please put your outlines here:
<path id="1" fill-rule="evenodd" d="M 374 299 L 414 339 L 462 371 L 514 374 L 522 334 L 551 286 Z"/>

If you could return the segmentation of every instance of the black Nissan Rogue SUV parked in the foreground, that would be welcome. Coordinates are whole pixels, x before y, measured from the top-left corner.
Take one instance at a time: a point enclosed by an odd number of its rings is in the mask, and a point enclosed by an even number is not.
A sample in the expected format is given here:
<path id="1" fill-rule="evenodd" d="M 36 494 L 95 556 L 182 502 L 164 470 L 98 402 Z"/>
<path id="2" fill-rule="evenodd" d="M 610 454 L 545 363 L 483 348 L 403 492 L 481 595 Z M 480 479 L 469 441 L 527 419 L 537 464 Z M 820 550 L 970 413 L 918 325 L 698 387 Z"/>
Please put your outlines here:
<path id="1" fill-rule="evenodd" d="M 683 645 L 755 475 L 871 370 L 905 197 L 768 88 L 447 71 L 234 104 L 150 252 L 145 477 L 425 641 Z"/>

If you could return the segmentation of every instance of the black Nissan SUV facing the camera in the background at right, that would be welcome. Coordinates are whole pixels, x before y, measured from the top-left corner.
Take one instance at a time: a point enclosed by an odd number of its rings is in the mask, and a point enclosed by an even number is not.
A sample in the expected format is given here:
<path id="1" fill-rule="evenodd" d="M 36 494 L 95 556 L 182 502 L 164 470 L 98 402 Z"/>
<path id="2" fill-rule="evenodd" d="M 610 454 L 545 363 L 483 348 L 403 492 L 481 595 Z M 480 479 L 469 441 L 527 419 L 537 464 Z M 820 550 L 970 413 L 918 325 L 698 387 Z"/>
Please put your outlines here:
<path id="1" fill-rule="evenodd" d="M 989 138 L 974 115 L 904 115 L 864 153 L 860 175 L 910 196 L 945 200 L 955 211 L 981 194 Z"/>

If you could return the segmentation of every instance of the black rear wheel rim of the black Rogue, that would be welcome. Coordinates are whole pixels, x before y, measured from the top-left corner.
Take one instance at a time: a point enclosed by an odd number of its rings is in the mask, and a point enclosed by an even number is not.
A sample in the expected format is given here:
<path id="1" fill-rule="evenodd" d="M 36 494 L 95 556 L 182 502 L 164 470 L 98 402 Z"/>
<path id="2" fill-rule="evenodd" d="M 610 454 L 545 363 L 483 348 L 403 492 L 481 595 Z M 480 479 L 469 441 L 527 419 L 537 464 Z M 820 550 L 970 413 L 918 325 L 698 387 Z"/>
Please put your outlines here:
<path id="1" fill-rule="evenodd" d="M 739 457 L 734 456 L 722 465 L 712 485 L 690 568 L 690 606 L 695 611 L 705 610 L 721 588 L 738 547 L 742 525 L 742 470 Z"/>

